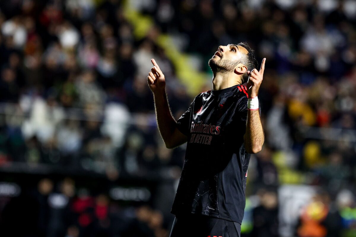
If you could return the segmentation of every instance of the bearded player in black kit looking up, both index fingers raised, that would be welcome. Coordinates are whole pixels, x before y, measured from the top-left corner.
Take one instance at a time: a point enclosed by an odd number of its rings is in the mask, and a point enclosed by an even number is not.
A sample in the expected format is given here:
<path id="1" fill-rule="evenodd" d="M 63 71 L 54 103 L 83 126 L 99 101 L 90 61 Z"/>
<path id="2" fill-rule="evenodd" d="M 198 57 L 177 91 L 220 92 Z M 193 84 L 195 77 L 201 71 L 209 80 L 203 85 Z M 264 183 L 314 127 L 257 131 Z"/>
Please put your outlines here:
<path id="1" fill-rule="evenodd" d="M 164 75 L 151 61 L 147 82 L 158 130 L 167 148 L 187 142 L 170 237 L 240 237 L 250 154 L 259 152 L 265 140 L 257 95 L 266 58 L 258 71 L 247 43 L 219 46 L 209 60 L 212 90 L 197 95 L 177 121 Z"/>

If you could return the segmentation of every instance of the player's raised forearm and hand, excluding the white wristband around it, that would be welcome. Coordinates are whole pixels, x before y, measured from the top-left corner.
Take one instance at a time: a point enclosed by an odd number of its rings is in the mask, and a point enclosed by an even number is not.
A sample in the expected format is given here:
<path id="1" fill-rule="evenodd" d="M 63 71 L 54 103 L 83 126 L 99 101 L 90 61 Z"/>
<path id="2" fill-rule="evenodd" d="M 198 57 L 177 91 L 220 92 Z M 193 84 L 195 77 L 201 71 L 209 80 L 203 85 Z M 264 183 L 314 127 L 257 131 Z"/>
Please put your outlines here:
<path id="1" fill-rule="evenodd" d="M 252 69 L 251 72 L 247 71 L 247 74 L 249 75 L 247 82 L 249 99 L 257 99 L 258 90 L 260 89 L 263 80 L 263 72 L 265 71 L 265 61 L 266 58 L 262 60 L 260 71 L 257 71 L 257 69 Z M 261 151 L 263 142 L 265 141 L 265 134 L 263 133 L 260 111 L 258 108 L 247 108 L 246 133 L 244 135 L 244 140 L 245 149 L 248 153 L 257 153 Z"/>

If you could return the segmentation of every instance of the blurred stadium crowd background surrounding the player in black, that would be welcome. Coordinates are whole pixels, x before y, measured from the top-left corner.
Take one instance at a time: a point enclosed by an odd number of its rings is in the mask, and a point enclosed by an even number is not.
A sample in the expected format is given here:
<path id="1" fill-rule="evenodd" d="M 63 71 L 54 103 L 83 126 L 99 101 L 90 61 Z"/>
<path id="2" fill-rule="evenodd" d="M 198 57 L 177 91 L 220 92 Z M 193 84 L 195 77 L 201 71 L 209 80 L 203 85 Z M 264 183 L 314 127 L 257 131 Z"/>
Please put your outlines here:
<path id="1" fill-rule="evenodd" d="M 267 58 L 242 236 L 356 236 L 354 0 L 0 1 L 0 235 L 168 237 L 185 145 L 150 59 L 178 119 L 241 41 Z"/>

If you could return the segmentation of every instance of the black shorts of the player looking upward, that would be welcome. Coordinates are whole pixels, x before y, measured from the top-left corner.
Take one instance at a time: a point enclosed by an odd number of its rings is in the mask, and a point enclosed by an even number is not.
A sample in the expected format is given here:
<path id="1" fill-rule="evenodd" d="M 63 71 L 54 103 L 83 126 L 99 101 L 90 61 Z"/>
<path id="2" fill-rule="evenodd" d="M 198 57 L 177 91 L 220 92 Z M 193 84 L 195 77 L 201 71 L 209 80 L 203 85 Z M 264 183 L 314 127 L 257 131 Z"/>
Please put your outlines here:
<path id="1" fill-rule="evenodd" d="M 241 225 L 216 217 L 190 214 L 175 216 L 169 237 L 240 237 Z"/>

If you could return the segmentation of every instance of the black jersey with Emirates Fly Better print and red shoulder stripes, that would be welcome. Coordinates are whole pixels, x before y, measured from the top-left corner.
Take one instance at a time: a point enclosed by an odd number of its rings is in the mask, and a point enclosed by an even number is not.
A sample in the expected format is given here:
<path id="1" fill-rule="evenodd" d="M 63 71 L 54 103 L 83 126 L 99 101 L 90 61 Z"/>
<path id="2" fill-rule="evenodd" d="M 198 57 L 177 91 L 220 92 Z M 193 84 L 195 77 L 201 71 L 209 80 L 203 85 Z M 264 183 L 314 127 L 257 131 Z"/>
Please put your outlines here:
<path id="1" fill-rule="evenodd" d="M 201 92 L 177 120 L 187 150 L 171 213 L 202 214 L 241 224 L 250 154 L 244 134 L 247 90 Z"/>

